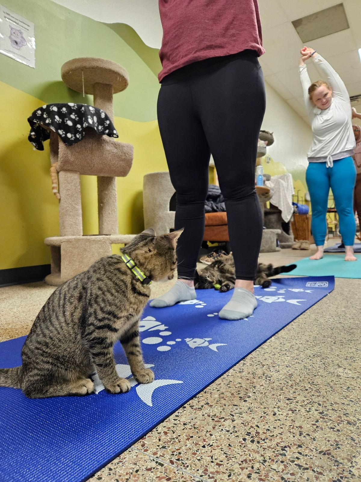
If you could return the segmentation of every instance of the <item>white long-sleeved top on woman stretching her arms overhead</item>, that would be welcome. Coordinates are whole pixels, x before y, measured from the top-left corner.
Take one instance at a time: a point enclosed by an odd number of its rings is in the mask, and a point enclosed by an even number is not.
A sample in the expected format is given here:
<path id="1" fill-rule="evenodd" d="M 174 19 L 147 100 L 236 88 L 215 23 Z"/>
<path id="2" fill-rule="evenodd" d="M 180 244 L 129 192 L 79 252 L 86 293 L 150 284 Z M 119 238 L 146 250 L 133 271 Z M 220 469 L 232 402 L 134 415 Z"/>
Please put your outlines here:
<path id="1" fill-rule="evenodd" d="M 312 127 L 312 145 L 307 153 L 309 162 L 333 161 L 351 156 L 356 146 L 352 130 L 352 110 L 350 98 L 345 84 L 330 64 L 317 54 L 311 57 L 322 71 L 324 80 L 332 89 L 332 102 L 327 109 L 319 109 L 309 99 L 308 89 L 311 85 L 307 66 L 299 67 L 303 97 L 307 115 Z"/>

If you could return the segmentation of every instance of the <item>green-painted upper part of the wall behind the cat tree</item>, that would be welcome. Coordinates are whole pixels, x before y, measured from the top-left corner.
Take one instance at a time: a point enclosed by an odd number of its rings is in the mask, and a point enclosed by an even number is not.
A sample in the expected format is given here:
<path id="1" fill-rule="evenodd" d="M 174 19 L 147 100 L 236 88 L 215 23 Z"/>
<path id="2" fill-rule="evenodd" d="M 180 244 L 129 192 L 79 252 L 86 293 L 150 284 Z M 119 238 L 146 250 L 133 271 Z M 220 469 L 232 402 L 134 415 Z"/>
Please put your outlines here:
<path id="1" fill-rule="evenodd" d="M 97 22 L 51 0 L 1 0 L 1 4 L 34 23 L 36 41 L 35 69 L 0 54 L 2 82 L 46 104 L 70 99 L 91 104 L 91 96 L 84 99 L 65 86 L 60 68 L 75 57 L 102 57 L 129 73 L 129 87 L 114 96 L 115 115 L 142 122 L 156 119 L 160 61 L 156 49 L 147 47 L 131 27 Z"/>

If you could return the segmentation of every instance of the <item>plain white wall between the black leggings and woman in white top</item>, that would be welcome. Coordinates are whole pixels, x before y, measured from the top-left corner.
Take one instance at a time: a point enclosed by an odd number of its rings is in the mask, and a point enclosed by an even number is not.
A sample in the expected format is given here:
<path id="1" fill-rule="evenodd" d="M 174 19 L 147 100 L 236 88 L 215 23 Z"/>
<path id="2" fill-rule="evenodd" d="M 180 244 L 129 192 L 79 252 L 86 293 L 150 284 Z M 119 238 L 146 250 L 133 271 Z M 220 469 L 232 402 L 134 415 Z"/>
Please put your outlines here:
<path id="1" fill-rule="evenodd" d="M 307 166 L 311 128 L 267 83 L 262 129 L 273 132 L 274 144 L 267 147 L 267 153 L 274 161 L 282 162 L 291 173 L 297 165 Z"/>

